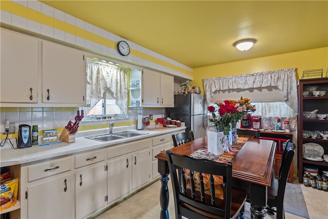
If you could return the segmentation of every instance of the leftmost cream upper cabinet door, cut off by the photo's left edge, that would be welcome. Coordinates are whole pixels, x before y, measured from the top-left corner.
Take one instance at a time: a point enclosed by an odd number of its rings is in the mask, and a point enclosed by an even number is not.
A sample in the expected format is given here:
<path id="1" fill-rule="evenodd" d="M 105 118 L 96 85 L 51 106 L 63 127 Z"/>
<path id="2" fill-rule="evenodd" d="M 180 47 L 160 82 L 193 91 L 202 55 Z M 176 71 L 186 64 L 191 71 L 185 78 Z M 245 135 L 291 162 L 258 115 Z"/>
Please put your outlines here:
<path id="1" fill-rule="evenodd" d="M 37 39 L 2 29 L 0 42 L 1 102 L 36 103 L 38 83 Z"/>

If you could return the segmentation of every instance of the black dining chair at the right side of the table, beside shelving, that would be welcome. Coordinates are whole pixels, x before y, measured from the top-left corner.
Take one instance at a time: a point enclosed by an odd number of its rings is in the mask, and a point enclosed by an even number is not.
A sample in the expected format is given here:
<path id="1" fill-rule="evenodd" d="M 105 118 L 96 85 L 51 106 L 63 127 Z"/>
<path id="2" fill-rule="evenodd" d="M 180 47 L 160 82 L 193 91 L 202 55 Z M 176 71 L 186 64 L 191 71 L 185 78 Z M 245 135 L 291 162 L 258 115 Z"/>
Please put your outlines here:
<path id="1" fill-rule="evenodd" d="M 283 199 L 285 194 L 285 188 L 288 180 L 289 170 L 293 161 L 295 145 L 291 140 L 286 142 L 286 146 L 283 150 L 281 157 L 281 164 L 278 174 L 278 179 L 272 178 L 271 186 L 268 188 L 268 207 L 267 213 L 273 215 L 277 214 L 277 219 L 285 218 Z"/>

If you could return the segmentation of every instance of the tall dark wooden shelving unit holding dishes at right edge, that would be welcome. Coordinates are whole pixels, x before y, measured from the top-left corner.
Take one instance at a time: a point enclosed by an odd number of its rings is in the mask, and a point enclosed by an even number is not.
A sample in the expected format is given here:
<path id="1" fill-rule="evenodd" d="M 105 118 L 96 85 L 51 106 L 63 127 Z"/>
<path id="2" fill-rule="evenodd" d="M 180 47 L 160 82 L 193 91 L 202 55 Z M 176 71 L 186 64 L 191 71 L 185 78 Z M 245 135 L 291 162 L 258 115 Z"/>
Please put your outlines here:
<path id="1" fill-rule="evenodd" d="M 303 96 L 308 86 L 319 86 L 317 90 L 325 90 L 324 96 L 313 96 L 310 91 L 310 96 Z M 319 168 L 319 173 L 322 170 L 328 170 L 328 163 L 324 161 L 310 161 L 303 158 L 303 144 L 316 143 L 323 147 L 324 154 L 328 154 L 328 140 L 322 138 L 303 138 L 303 130 L 305 131 L 328 131 L 328 120 L 308 119 L 303 118 L 303 111 L 318 110 L 317 113 L 328 114 L 328 78 L 301 79 L 299 81 L 299 114 L 298 114 L 298 181 L 303 182 L 303 165 L 310 165 Z"/>

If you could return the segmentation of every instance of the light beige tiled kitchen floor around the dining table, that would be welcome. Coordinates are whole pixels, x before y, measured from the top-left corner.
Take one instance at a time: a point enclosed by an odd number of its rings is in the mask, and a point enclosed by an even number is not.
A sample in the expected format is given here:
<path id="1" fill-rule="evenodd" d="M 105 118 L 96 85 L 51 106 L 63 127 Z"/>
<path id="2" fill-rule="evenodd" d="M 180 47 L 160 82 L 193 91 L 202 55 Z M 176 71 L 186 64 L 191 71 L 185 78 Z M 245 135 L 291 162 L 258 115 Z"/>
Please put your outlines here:
<path id="1" fill-rule="evenodd" d="M 298 183 L 298 178 L 294 177 L 294 184 Z M 128 198 L 128 200 L 120 203 L 119 205 L 108 210 L 104 214 L 101 214 L 97 219 L 129 219 L 129 218 L 149 218 L 155 219 L 159 218 L 159 188 L 160 182 L 156 182 L 148 188 L 142 190 L 141 192 L 135 194 L 134 196 Z M 169 185 L 170 196 L 173 197 L 172 187 Z M 328 192 L 313 189 L 311 187 L 305 187 L 301 184 L 301 189 L 303 191 L 303 196 L 308 209 L 310 219 L 327 219 L 328 218 Z M 249 204 L 248 204 L 249 205 Z M 246 218 L 249 219 L 249 206 L 245 207 Z M 169 203 L 169 216 L 170 218 L 175 218 L 174 216 L 174 204 L 171 199 Z M 267 215 L 265 219 L 274 219 L 276 215 Z M 293 214 L 285 213 L 286 219 L 302 219 Z"/>

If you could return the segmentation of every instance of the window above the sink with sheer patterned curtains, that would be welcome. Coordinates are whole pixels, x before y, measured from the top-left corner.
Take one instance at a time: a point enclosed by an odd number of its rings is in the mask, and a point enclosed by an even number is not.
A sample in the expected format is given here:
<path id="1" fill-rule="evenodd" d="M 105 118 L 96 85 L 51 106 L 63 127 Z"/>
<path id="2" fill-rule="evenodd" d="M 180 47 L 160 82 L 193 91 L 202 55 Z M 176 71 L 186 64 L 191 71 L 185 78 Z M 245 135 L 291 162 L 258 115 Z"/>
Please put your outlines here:
<path id="1" fill-rule="evenodd" d="M 129 117 L 128 71 L 127 67 L 87 58 L 87 115 L 90 120 Z"/>

